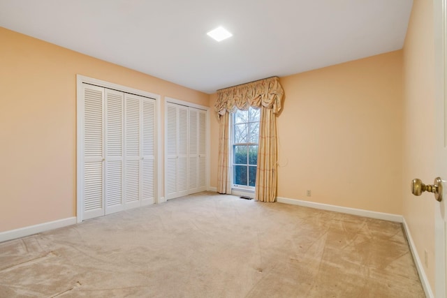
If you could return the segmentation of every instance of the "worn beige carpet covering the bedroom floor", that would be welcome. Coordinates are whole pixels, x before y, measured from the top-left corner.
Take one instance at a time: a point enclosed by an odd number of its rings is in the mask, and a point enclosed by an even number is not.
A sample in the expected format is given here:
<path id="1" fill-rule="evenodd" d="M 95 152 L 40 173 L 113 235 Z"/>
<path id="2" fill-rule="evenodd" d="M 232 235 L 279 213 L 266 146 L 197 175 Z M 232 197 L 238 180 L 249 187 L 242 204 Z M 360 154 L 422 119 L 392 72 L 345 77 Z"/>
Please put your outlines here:
<path id="1" fill-rule="evenodd" d="M 425 297 L 400 223 L 198 193 L 0 244 L 0 297 Z"/>

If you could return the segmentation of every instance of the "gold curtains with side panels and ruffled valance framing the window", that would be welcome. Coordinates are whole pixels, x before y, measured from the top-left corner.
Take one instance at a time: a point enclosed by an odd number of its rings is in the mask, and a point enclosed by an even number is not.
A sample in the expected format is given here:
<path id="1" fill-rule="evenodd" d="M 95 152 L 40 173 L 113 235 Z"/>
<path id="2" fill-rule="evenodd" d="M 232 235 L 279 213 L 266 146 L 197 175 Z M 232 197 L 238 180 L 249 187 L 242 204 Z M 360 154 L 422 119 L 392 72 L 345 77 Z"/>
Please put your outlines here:
<path id="1" fill-rule="evenodd" d="M 242 84 L 217 91 L 214 105 L 219 120 L 219 162 L 217 191 L 231 193 L 229 165 L 230 125 L 228 113 L 261 109 L 259 128 L 258 167 L 256 171 L 255 198 L 274 202 L 277 195 L 277 126 L 276 117 L 282 108 L 284 90 L 278 77 Z"/>

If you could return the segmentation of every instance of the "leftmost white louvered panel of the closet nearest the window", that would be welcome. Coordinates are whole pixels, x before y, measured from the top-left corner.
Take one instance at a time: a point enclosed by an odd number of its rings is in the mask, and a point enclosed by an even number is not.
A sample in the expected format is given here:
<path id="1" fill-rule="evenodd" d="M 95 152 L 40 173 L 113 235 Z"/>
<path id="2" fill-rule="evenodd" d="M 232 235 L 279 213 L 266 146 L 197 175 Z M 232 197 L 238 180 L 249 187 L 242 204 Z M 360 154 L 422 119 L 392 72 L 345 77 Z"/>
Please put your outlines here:
<path id="1" fill-rule="evenodd" d="M 166 200 L 177 198 L 177 105 L 166 103 Z"/>

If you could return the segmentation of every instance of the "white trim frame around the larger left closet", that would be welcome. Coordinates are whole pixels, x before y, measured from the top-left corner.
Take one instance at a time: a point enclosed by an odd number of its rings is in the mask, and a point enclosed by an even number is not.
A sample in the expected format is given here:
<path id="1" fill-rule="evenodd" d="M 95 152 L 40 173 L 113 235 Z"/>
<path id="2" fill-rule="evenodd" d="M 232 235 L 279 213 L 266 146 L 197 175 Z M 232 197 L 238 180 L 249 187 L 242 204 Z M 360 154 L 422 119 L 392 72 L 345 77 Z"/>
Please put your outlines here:
<path id="1" fill-rule="evenodd" d="M 114 89 L 117 91 L 123 91 L 129 94 L 135 94 L 138 96 L 145 96 L 149 98 L 154 98 L 156 103 L 156 161 L 161 161 L 161 96 L 159 94 L 152 94 L 147 91 L 141 91 L 131 87 L 122 86 L 119 84 L 114 84 L 111 82 L 106 82 L 103 80 L 94 79 L 92 77 L 86 77 L 84 75 L 76 75 L 76 221 L 77 223 L 82 222 L 83 210 L 84 210 L 84 92 L 83 84 L 92 84 L 98 87 Z M 161 163 L 156 163 L 156 202 L 163 202 L 161 198 L 162 186 L 161 182 Z"/>

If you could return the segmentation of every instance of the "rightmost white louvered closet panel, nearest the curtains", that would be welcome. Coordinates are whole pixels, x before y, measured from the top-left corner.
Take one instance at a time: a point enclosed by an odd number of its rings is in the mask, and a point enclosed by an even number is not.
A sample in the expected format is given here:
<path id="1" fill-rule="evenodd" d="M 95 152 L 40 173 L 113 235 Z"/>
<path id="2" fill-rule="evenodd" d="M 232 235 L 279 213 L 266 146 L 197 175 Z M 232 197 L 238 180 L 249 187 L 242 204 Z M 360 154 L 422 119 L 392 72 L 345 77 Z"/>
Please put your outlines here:
<path id="1" fill-rule="evenodd" d="M 198 191 L 207 190 L 207 112 L 198 110 Z"/>

